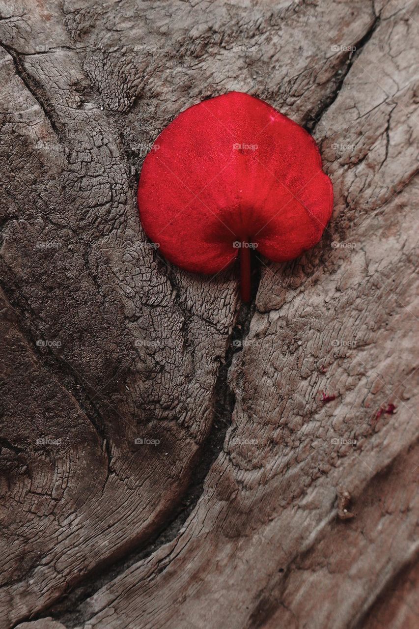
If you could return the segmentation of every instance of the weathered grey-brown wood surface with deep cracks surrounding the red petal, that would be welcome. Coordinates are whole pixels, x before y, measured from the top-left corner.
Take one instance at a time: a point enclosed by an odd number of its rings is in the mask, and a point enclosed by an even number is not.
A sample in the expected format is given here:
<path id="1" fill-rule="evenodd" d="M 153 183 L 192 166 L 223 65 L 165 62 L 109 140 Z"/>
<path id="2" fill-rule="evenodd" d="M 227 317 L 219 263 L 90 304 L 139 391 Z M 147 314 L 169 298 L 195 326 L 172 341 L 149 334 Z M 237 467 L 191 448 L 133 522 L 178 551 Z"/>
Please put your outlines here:
<path id="1" fill-rule="evenodd" d="M 0 18 L 0 627 L 417 626 L 418 3 Z M 250 309 L 135 204 L 159 131 L 233 89 L 313 130 L 336 197 Z"/>

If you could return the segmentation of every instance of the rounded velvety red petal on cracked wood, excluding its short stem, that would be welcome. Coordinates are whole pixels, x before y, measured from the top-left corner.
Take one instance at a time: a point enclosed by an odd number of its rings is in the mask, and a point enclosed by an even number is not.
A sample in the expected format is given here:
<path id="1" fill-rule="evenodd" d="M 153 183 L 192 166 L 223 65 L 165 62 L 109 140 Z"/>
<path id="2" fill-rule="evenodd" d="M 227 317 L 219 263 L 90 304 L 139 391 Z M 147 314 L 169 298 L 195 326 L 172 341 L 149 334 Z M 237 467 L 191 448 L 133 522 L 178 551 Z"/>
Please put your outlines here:
<path id="1" fill-rule="evenodd" d="M 183 111 L 148 153 L 138 208 L 182 269 L 215 274 L 247 241 L 276 262 L 313 247 L 332 214 L 315 141 L 258 98 L 230 92 Z"/>

